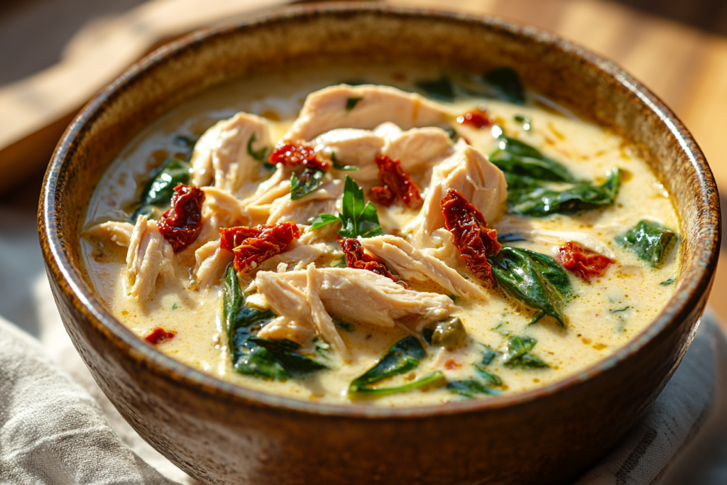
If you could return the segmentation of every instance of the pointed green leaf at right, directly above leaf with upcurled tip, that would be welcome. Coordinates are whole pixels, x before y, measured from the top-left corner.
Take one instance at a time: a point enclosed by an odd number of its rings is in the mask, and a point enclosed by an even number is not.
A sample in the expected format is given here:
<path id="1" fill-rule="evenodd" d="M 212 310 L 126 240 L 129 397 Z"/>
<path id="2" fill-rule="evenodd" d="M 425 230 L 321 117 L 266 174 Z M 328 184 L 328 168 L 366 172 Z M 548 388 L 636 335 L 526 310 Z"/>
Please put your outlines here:
<path id="1" fill-rule="evenodd" d="M 537 180 L 553 180 L 574 183 L 575 177 L 563 164 L 547 158 L 537 148 L 506 135 L 500 135 L 498 148 L 489 159 L 502 172 L 531 177 Z M 508 186 L 509 180 L 508 180 Z"/>

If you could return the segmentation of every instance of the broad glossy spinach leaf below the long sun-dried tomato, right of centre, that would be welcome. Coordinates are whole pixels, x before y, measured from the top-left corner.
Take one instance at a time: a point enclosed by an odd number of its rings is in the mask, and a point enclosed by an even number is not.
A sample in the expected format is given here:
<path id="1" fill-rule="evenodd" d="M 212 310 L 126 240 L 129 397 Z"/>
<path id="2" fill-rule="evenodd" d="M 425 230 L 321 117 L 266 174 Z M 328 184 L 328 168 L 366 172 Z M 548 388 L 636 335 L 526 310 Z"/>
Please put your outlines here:
<path id="1" fill-rule="evenodd" d="M 572 294 L 566 270 L 552 257 L 515 247 L 504 247 L 488 257 L 497 284 L 510 297 L 553 316 L 566 326 L 563 307 Z"/>

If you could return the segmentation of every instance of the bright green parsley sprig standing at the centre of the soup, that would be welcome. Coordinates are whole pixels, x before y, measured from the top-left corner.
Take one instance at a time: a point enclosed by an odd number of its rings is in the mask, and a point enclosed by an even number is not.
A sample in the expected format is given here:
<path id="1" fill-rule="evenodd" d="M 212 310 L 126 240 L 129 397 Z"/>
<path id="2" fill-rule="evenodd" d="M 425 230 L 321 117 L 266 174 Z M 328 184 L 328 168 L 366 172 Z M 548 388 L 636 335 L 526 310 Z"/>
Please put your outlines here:
<path id="1" fill-rule="evenodd" d="M 342 224 L 338 233 L 345 238 L 358 236 L 370 238 L 384 234 L 379 224 L 376 207 L 371 202 L 364 201 L 364 189 L 360 188 L 348 175 L 346 175 L 346 182 L 343 186 L 342 212 L 337 216 L 321 214 L 308 222 L 311 224 L 311 229 L 315 231 L 337 221 Z"/>

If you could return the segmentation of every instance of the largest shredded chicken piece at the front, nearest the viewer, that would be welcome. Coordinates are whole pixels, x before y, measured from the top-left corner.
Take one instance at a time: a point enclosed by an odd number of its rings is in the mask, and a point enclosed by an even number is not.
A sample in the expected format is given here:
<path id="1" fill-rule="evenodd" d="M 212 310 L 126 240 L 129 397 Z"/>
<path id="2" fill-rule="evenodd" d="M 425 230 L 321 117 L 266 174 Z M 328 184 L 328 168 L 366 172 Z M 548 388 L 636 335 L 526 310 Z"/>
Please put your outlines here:
<path id="1" fill-rule="evenodd" d="M 257 273 L 254 286 L 272 308 L 286 303 L 277 300 L 270 288 L 285 281 L 298 289 L 308 287 L 314 273 L 318 285 L 318 297 L 329 315 L 353 323 L 378 326 L 403 324 L 420 331 L 433 321 L 440 321 L 461 310 L 443 294 L 415 292 L 395 284 L 390 278 L 367 270 L 354 268 L 310 267 L 305 271 Z M 301 290 L 302 291 L 302 290 Z"/>

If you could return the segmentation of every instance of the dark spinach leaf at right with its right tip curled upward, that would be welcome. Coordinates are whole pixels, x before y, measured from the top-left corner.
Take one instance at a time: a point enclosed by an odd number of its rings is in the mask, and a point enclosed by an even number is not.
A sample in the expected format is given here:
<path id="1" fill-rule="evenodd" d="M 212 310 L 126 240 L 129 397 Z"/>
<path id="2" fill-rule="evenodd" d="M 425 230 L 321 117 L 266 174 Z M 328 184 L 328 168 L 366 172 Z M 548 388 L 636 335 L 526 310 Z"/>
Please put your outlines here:
<path id="1" fill-rule="evenodd" d="M 545 187 L 515 189 L 507 192 L 507 201 L 510 202 L 510 212 L 520 215 L 546 217 L 553 214 L 576 214 L 614 204 L 620 185 L 620 170 L 613 169 L 603 185 L 583 182 L 563 191 Z"/>

